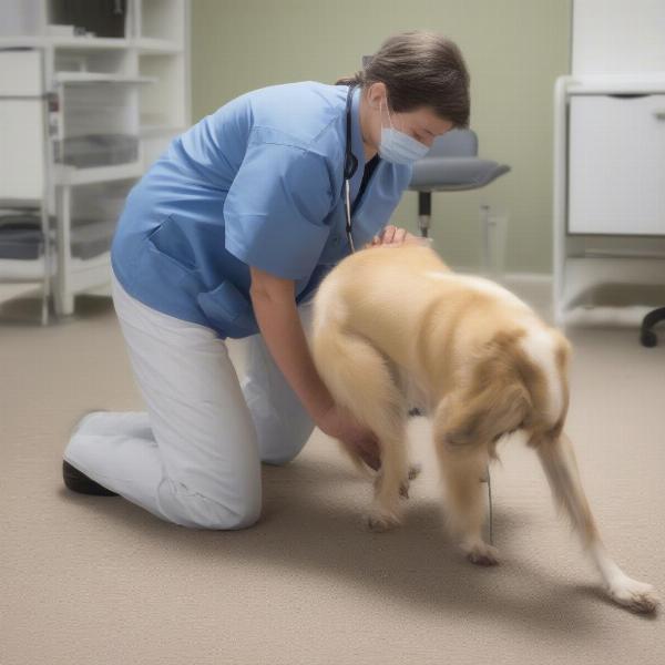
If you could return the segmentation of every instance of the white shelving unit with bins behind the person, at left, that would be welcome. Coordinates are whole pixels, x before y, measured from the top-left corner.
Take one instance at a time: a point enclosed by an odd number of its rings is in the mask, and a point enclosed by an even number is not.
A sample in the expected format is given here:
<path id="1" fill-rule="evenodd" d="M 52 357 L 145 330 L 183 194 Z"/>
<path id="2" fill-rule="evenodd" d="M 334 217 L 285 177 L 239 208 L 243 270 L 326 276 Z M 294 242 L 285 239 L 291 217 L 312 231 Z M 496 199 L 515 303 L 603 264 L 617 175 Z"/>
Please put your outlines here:
<path id="1" fill-rule="evenodd" d="M 32 211 L 43 234 L 38 256 L 0 254 L 0 303 L 41 291 L 44 321 L 51 293 L 58 315 L 110 293 L 124 198 L 191 116 L 188 0 L 85 4 L 0 0 L 0 215 Z"/>

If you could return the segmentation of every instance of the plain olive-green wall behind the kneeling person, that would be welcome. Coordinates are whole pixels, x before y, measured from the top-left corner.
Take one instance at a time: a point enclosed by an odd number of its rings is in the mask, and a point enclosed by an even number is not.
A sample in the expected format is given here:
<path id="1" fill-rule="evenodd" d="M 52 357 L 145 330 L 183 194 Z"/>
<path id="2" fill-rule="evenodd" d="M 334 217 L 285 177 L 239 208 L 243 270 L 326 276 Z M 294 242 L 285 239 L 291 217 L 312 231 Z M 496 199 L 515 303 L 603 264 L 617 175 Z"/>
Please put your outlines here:
<path id="1" fill-rule="evenodd" d="M 510 217 L 509 272 L 552 268 L 552 98 L 569 71 L 571 0 L 193 0 L 193 120 L 288 81 L 335 82 L 392 32 L 429 29 L 461 48 L 471 72 L 480 155 L 512 172 L 483 190 L 438 193 L 432 236 L 453 266 L 480 263 L 478 208 Z M 417 194 L 392 222 L 417 228 Z"/>

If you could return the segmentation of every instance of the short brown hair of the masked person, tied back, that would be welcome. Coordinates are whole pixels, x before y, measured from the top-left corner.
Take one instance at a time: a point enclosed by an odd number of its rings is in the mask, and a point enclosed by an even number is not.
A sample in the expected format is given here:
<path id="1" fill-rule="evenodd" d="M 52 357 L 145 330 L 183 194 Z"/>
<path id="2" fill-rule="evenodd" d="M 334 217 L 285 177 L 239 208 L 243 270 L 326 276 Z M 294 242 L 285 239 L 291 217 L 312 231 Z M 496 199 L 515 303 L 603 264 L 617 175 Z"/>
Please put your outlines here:
<path id="1" fill-rule="evenodd" d="M 456 127 L 469 125 L 469 72 L 456 43 L 436 32 L 415 30 L 389 37 L 365 69 L 337 85 L 383 83 L 396 113 L 430 108 Z"/>

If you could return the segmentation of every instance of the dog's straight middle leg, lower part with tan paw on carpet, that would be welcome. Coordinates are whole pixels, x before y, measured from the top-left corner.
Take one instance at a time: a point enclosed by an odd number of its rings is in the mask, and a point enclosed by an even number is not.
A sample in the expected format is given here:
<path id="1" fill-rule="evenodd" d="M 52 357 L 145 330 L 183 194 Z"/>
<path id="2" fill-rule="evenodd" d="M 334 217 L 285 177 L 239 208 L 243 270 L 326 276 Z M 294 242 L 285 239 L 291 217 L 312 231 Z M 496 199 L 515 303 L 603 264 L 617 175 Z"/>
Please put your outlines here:
<path id="1" fill-rule="evenodd" d="M 441 477 L 446 490 L 446 516 L 448 528 L 461 536 L 461 548 L 471 563 L 495 565 L 499 551 L 482 538 L 487 519 L 484 484 L 487 454 L 451 450 L 446 443 L 437 444 Z"/>

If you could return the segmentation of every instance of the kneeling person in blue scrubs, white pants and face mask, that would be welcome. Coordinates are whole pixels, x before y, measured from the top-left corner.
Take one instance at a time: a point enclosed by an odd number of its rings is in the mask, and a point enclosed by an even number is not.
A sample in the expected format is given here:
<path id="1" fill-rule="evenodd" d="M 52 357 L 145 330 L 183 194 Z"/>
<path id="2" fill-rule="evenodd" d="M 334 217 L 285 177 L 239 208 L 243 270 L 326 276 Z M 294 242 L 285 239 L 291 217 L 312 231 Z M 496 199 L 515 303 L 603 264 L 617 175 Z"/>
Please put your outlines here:
<path id="1" fill-rule="evenodd" d="M 295 458 L 315 424 L 377 468 L 372 432 L 316 372 L 307 303 L 354 246 L 403 241 L 386 224 L 410 164 L 468 119 L 458 48 L 409 32 L 352 79 L 250 92 L 175 139 L 130 193 L 112 247 L 147 412 L 83 417 L 65 484 L 184 526 L 239 529 L 260 513 L 260 462 Z M 224 339 L 249 336 L 241 385 Z"/>

